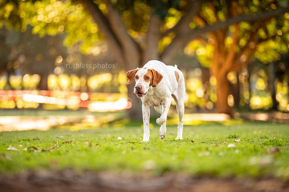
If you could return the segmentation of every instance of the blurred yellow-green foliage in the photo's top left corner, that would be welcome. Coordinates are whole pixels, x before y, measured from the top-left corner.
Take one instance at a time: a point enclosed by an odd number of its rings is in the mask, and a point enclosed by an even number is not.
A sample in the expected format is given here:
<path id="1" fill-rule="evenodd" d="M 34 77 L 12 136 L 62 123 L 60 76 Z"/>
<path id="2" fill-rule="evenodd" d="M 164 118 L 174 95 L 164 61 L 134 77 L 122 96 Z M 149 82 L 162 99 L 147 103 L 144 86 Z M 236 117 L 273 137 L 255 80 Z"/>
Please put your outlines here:
<path id="1" fill-rule="evenodd" d="M 91 54 L 89 50 L 99 45 L 102 35 L 88 12 L 81 4 L 71 1 L 12 1 L 0 3 L 0 24 L 8 29 L 24 32 L 27 24 L 33 26 L 32 33 L 57 35 L 66 33 L 64 45 L 71 47 L 80 44 L 79 50 L 84 54 Z"/>

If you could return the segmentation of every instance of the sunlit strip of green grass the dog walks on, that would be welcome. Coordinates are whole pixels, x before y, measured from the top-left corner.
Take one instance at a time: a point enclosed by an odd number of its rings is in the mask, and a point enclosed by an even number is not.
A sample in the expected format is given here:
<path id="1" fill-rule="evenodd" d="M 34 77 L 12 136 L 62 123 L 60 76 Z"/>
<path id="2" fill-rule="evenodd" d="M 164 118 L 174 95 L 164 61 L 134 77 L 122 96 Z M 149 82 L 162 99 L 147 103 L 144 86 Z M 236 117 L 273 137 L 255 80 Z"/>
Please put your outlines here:
<path id="1" fill-rule="evenodd" d="M 183 172 L 189 175 L 289 179 L 288 124 L 249 121 L 202 123 L 184 126 L 183 140 L 174 139 L 176 126 L 167 127 L 167 136 L 163 140 L 158 136 L 158 125 L 153 124 L 153 127 L 150 129 L 151 141 L 146 144 L 136 143 L 142 140 L 141 122 L 127 124 L 125 128 L 1 132 L 0 173 L 68 168 L 76 172 L 92 170 L 156 175 Z M 119 136 L 122 140 L 117 139 Z M 33 140 L 36 137 L 40 140 Z M 240 142 L 234 142 L 236 139 Z M 72 142 L 63 143 L 65 141 Z M 121 143 L 127 141 L 131 142 Z M 228 148 L 229 144 L 235 147 Z M 7 150 L 9 146 L 17 151 Z M 280 151 L 267 153 L 273 147 Z"/>

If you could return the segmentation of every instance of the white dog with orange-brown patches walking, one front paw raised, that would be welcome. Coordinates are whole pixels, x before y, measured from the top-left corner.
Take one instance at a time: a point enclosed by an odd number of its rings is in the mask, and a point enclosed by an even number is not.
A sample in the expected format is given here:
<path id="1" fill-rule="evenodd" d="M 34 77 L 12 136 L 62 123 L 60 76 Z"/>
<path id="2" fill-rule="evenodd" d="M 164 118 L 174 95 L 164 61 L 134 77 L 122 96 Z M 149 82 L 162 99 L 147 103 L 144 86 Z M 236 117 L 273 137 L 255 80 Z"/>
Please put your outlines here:
<path id="1" fill-rule="evenodd" d="M 149 106 L 161 114 L 157 119 L 160 138 L 166 136 L 166 118 L 174 98 L 178 115 L 178 132 L 176 139 L 183 139 L 184 98 L 186 94 L 184 75 L 177 66 L 167 66 L 156 60 L 147 62 L 142 68 L 127 72 L 127 84 L 136 80 L 134 93 L 142 100 L 142 119 L 144 122 L 143 142 L 149 141 Z"/>

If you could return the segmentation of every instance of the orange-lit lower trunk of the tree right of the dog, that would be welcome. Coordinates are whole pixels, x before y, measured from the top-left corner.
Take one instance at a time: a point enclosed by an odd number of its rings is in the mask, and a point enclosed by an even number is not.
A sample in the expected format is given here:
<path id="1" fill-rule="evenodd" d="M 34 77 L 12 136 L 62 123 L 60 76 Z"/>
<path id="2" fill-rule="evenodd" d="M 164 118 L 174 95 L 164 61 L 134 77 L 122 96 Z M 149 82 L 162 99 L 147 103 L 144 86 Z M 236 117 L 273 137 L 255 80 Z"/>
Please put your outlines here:
<path id="1" fill-rule="evenodd" d="M 225 113 L 233 116 L 231 107 L 228 105 L 228 96 L 230 94 L 229 81 L 227 80 L 227 73 L 216 73 L 217 79 L 216 93 L 216 111 L 217 113 Z"/>

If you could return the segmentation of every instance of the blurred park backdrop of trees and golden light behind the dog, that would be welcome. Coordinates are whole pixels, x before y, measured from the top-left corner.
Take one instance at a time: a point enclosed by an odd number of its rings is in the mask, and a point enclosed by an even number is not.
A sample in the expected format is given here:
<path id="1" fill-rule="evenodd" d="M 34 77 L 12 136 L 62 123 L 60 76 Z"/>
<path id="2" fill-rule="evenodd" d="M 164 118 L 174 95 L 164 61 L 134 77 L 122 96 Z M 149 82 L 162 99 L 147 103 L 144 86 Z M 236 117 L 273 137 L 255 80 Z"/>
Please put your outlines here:
<path id="1" fill-rule="evenodd" d="M 283 0 L 0 0 L 0 131 L 141 119 L 125 74 L 149 60 L 184 73 L 184 124 L 288 121 L 287 7 Z M 172 101 L 167 123 L 177 124 L 176 115 Z"/>

